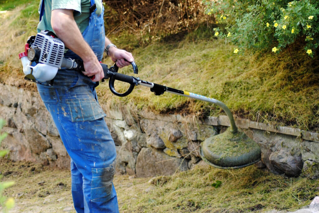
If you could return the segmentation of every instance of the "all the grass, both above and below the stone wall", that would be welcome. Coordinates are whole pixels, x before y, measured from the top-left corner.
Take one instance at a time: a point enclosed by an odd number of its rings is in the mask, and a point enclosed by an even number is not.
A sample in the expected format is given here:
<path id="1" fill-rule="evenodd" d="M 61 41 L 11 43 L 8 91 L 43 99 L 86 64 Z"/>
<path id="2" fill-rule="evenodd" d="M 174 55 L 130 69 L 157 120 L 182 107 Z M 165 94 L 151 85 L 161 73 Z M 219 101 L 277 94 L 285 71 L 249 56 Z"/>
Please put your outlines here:
<path id="1" fill-rule="evenodd" d="M 36 33 L 37 6 L 38 2 L 33 1 L 0 1 L 2 83 L 35 90 L 33 83 L 23 80 L 17 54 L 23 51 L 26 39 Z M 308 58 L 298 47 L 293 57 L 286 52 L 233 54 L 235 47 L 213 38 L 210 31 L 199 27 L 187 35 L 172 36 L 146 46 L 143 37 L 134 39 L 127 32 L 116 38 L 110 34 L 110 38 L 118 47 L 133 52 L 142 80 L 216 98 L 239 117 L 318 131 L 318 58 Z M 107 58 L 103 62 L 113 64 Z M 133 75 L 131 67 L 120 72 Z M 116 84 L 116 88 L 126 87 Z M 124 98 L 113 95 L 107 83 L 97 90 L 102 106 L 131 106 L 127 108 L 135 110 L 134 113 L 141 109 L 197 117 L 223 113 L 217 106 L 178 95 L 155 96 L 141 86 Z M 3 175 L 12 171 L 2 181 L 16 180 L 16 185 L 7 189 L 5 195 L 16 196 L 22 192 L 16 198 L 19 208 L 32 209 L 37 205 L 43 212 L 58 212 L 57 206 L 63 209 L 71 205 L 69 171 L 26 162 L 1 163 L 0 171 Z M 44 180 L 43 185 L 38 184 Z M 202 166 L 169 177 L 155 177 L 150 183 L 149 180 L 115 177 L 121 212 L 295 210 L 319 195 L 316 180 L 286 178 L 254 166 L 238 170 Z M 50 198 L 52 202 L 43 204 L 50 195 L 54 195 Z M 61 197 L 66 197 L 64 206 L 54 200 Z"/>

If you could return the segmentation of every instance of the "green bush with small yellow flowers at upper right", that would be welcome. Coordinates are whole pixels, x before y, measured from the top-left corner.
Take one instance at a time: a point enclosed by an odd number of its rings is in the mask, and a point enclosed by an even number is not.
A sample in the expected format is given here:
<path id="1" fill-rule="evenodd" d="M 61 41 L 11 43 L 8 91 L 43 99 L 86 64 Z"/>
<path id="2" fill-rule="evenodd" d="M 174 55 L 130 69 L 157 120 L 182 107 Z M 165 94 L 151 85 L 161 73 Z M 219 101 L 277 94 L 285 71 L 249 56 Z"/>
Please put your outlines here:
<path id="1" fill-rule="evenodd" d="M 319 42 L 319 1 L 302 0 L 203 0 L 206 13 L 215 15 L 215 36 L 237 45 L 234 53 L 280 52 L 288 45 L 301 45 L 313 57 Z"/>

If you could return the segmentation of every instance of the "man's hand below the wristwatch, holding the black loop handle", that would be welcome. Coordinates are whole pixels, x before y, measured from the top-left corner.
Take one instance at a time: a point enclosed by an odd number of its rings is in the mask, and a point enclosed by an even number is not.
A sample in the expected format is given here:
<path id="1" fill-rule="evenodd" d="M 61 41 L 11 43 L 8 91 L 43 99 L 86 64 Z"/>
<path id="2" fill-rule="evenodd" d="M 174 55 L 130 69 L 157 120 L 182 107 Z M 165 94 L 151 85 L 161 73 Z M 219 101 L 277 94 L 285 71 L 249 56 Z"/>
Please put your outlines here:
<path id="1" fill-rule="evenodd" d="M 117 49 L 116 47 L 110 47 L 110 49 L 108 49 L 108 55 L 120 68 L 130 65 L 131 62 L 134 61 L 134 58 L 130 52 L 127 52 L 124 49 Z"/>

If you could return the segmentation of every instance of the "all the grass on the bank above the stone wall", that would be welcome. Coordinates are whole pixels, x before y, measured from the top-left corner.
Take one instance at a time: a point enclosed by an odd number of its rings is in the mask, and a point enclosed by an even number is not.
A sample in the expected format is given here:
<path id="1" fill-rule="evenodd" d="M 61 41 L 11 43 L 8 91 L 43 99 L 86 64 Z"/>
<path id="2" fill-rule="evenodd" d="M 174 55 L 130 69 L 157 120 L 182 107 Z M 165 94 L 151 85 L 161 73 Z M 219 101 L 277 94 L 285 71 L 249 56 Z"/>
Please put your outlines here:
<path id="1" fill-rule="evenodd" d="M 4 7 L 10 2 L 0 3 Z M 23 80 L 17 54 L 23 51 L 27 37 L 36 33 L 38 3 L 22 3 L 0 13 L 0 81 L 35 90 L 34 84 Z M 137 76 L 142 80 L 215 98 L 241 118 L 319 131 L 318 57 L 308 57 L 298 46 L 290 47 L 293 54 L 234 54 L 235 47 L 216 39 L 211 30 L 199 26 L 188 34 L 151 43 L 130 32 L 109 37 L 118 47 L 133 53 L 139 68 Z M 103 62 L 113 64 L 108 58 Z M 120 72 L 133 75 L 131 67 Z M 125 91 L 127 85 L 117 83 L 115 88 Z M 142 86 L 126 97 L 113 95 L 107 83 L 97 90 L 104 107 L 130 104 L 134 110 L 195 114 L 199 118 L 224 113 L 218 106 L 178 95 L 155 96 Z"/>

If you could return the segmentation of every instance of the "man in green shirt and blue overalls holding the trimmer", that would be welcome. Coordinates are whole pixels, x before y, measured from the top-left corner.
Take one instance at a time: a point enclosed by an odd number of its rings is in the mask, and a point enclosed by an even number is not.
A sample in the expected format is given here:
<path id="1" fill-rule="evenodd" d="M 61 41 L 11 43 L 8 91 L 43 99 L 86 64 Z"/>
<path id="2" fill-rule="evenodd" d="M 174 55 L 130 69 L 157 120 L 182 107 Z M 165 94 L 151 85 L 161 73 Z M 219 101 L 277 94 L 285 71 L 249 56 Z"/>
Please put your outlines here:
<path id="1" fill-rule="evenodd" d="M 64 57 L 81 58 L 85 71 L 59 70 L 53 86 L 37 84 L 71 157 L 72 198 L 77 212 L 118 212 L 113 176 L 115 144 L 103 119 L 95 87 L 104 77 L 103 50 L 118 67 L 131 53 L 105 37 L 100 0 L 41 0 L 38 31 L 50 30 L 64 42 Z M 124 60 L 126 59 L 126 60 Z"/>

